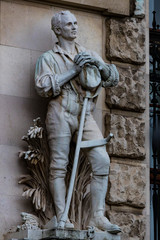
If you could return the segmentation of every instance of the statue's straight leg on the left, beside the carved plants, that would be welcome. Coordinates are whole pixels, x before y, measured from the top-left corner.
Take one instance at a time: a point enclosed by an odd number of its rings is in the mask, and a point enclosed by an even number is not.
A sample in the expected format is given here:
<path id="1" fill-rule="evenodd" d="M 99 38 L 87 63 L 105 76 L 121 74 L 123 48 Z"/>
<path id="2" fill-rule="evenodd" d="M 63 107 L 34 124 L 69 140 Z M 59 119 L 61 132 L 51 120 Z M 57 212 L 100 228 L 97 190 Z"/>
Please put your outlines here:
<path id="1" fill-rule="evenodd" d="M 49 184 L 57 221 L 59 222 L 65 208 L 65 176 L 72 129 L 65 109 L 55 101 L 49 105 L 46 128 L 50 148 Z M 68 222 L 66 223 L 66 227 L 73 228 L 74 226 Z"/>

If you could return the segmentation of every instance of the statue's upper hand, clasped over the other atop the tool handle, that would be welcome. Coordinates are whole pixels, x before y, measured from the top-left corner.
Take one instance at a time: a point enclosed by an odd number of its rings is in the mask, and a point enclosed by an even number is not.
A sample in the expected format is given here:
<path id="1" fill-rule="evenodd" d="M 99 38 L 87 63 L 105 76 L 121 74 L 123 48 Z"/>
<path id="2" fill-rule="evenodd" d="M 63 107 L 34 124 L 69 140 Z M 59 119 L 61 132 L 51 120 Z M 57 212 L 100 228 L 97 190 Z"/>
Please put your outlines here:
<path id="1" fill-rule="evenodd" d="M 89 63 L 89 64 L 93 64 L 93 65 L 96 65 L 98 66 L 98 60 L 89 55 L 88 53 L 86 52 L 80 52 L 78 53 L 75 58 L 74 58 L 74 67 L 76 68 L 76 71 L 77 73 L 80 73 L 83 66 L 86 64 L 86 63 Z"/>

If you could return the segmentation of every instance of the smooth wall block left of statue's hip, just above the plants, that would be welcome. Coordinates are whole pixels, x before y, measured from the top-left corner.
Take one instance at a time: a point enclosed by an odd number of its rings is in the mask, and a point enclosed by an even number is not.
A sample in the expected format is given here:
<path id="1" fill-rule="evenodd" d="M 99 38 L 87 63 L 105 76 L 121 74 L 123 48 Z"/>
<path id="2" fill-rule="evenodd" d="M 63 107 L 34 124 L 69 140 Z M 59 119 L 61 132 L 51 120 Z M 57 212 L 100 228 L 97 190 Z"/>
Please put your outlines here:
<path id="1" fill-rule="evenodd" d="M 40 116 L 44 122 L 45 106 L 43 99 L 0 95 L 0 144 L 24 146 L 21 138 L 33 119 Z"/>

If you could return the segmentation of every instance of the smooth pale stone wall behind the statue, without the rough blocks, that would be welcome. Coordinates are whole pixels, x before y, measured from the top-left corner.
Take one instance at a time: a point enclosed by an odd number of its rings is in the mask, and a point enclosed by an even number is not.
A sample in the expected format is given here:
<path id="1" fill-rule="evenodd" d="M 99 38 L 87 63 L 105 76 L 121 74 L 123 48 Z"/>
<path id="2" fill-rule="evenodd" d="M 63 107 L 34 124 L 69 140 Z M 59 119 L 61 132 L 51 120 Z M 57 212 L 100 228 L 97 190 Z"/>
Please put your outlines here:
<path id="1" fill-rule="evenodd" d="M 21 197 L 23 186 L 18 185 L 18 179 L 27 169 L 18 159 L 18 152 L 26 149 L 21 138 L 33 125 L 33 119 L 45 119 L 46 100 L 34 90 L 35 64 L 43 52 L 52 49 L 56 37 L 50 20 L 63 9 L 29 1 L 0 1 L 1 240 L 11 227 L 21 224 L 21 212 L 33 211 L 30 200 Z M 78 42 L 102 55 L 102 16 L 71 11 L 79 22 Z M 101 101 L 97 111 L 105 119 Z M 102 128 L 101 119 L 98 121 Z"/>

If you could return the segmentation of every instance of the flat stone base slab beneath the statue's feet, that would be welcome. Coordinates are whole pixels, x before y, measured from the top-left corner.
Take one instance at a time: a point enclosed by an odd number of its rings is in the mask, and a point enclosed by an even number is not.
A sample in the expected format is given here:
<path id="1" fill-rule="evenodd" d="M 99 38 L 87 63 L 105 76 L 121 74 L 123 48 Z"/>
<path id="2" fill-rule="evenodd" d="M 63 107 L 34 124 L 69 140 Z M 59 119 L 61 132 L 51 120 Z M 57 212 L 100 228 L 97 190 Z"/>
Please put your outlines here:
<path id="1" fill-rule="evenodd" d="M 108 232 L 89 232 L 89 230 L 21 230 L 8 233 L 5 240 L 120 240 L 120 235 Z"/>

